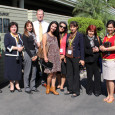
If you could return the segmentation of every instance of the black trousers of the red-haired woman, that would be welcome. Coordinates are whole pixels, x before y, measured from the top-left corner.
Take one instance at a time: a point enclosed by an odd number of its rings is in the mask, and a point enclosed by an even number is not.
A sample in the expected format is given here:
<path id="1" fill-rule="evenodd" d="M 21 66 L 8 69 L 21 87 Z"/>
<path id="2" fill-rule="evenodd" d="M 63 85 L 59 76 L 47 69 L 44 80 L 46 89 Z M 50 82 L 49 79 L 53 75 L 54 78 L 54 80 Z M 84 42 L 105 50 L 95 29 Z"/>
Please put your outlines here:
<path id="1" fill-rule="evenodd" d="M 86 92 L 100 93 L 101 92 L 101 73 L 99 72 L 98 62 L 86 63 L 87 70 L 87 89 Z M 92 80 L 94 75 L 94 82 Z"/>

